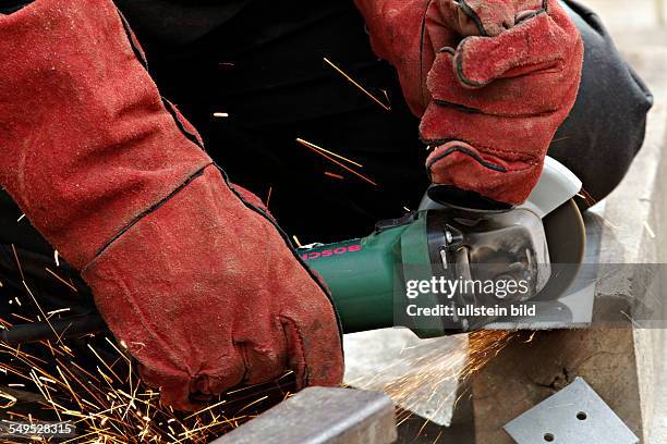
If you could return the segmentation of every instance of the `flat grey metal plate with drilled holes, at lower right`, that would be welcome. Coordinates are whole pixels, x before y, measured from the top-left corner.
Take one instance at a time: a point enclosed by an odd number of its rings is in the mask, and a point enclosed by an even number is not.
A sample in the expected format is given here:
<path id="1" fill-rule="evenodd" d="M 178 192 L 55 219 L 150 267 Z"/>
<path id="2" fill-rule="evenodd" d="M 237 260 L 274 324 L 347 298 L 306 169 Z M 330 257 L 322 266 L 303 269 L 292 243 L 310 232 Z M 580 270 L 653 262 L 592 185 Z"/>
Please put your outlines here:
<path id="1" fill-rule="evenodd" d="M 638 444 L 639 439 L 581 378 L 505 425 L 518 444 Z"/>

